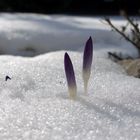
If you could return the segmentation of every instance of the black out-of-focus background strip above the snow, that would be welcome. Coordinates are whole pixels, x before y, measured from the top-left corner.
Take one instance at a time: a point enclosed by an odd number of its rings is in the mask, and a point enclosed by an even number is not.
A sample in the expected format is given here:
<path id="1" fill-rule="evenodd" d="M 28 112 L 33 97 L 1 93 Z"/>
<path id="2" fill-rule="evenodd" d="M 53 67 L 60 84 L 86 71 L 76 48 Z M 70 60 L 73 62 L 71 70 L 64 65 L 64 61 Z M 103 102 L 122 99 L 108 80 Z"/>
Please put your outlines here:
<path id="1" fill-rule="evenodd" d="M 138 0 L 0 0 L 0 12 L 106 15 L 139 13 Z"/>

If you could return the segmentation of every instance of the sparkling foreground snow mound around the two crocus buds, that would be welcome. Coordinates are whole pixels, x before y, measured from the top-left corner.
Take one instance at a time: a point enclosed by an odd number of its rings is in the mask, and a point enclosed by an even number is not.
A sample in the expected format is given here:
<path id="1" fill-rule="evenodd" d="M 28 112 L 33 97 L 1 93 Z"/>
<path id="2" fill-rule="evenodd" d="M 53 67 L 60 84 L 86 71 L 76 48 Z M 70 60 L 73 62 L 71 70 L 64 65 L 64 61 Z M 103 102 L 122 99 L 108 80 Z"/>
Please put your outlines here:
<path id="1" fill-rule="evenodd" d="M 63 51 L 35 58 L 1 56 L 0 139 L 140 139 L 140 81 L 95 57 L 84 95 L 82 54 L 68 53 L 78 83 L 75 101 L 68 97 Z M 11 80 L 4 81 L 5 75 Z"/>

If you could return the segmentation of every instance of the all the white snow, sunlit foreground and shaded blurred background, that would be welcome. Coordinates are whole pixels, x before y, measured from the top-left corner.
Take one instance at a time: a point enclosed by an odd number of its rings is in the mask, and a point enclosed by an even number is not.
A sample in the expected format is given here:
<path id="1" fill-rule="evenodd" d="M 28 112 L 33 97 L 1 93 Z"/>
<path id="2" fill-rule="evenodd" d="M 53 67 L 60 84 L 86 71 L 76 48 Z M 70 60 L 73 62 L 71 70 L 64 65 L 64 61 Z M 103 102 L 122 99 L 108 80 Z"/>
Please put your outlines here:
<path id="1" fill-rule="evenodd" d="M 0 14 L 0 50 L 6 53 L 0 56 L 1 140 L 140 139 L 140 80 L 107 57 L 108 51 L 132 56 L 137 52 L 100 20 Z M 90 35 L 94 57 L 84 95 L 83 46 Z M 26 50 L 29 46 L 32 49 Z M 70 100 L 67 91 L 66 51 L 75 69 L 76 100 Z M 32 55 L 37 56 L 22 57 Z M 11 80 L 5 81 L 6 75 Z"/>

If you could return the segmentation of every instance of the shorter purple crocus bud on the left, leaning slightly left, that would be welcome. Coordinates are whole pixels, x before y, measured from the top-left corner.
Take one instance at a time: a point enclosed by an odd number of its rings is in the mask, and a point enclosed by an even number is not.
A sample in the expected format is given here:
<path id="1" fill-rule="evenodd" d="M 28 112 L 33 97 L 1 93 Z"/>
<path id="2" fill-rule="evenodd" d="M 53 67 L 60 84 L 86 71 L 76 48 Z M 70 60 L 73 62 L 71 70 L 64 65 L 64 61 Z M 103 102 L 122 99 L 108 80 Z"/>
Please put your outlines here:
<path id="1" fill-rule="evenodd" d="M 68 91 L 69 91 L 70 98 L 75 99 L 76 93 L 77 93 L 75 74 L 74 74 L 71 59 L 67 53 L 65 53 L 65 56 L 64 56 L 64 68 L 65 68 L 65 74 L 67 78 Z"/>

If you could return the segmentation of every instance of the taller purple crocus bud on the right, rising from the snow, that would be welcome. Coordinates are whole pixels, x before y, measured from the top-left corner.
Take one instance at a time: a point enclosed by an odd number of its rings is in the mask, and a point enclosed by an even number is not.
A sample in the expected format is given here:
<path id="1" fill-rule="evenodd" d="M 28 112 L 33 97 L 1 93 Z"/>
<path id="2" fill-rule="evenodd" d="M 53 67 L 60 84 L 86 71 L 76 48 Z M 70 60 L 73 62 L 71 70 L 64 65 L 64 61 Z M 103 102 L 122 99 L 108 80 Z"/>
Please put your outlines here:
<path id="1" fill-rule="evenodd" d="M 83 55 L 83 81 L 85 93 L 87 93 L 87 86 L 91 73 L 92 57 L 93 57 L 93 44 L 92 38 L 90 37 L 86 42 Z"/>

